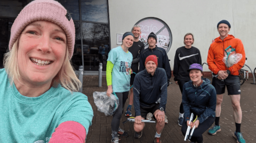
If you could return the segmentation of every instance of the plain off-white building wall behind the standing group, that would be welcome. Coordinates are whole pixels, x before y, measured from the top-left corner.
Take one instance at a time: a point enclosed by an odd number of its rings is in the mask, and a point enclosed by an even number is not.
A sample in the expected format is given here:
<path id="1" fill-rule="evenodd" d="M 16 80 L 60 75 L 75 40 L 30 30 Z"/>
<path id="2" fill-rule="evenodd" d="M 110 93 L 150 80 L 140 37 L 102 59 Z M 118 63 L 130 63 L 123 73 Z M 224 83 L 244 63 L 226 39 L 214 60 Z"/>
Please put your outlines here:
<path id="1" fill-rule="evenodd" d="M 117 47 L 117 33 L 131 31 L 132 26 L 139 20 L 155 17 L 167 23 L 172 31 L 172 46 L 167 53 L 171 68 L 175 51 L 183 46 L 183 37 L 186 33 L 194 34 L 194 44 L 201 51 L 202 62 L 206 62 L 207 53 L 212 39 L 219 36 L 217 23 L 226 19 L 231 24 L 229 34 L 243 41 L 245 54 L 248 58 L 247 65 L 255 68 L 256 36 L 255 5 L 256 1 L 216 0 L 216 1 L 169 1 L 169 0 L 144 0 L 109 2 L 109 21 L 111 48 Z M 204 71 L 210 71 L 204 66 Z"/>

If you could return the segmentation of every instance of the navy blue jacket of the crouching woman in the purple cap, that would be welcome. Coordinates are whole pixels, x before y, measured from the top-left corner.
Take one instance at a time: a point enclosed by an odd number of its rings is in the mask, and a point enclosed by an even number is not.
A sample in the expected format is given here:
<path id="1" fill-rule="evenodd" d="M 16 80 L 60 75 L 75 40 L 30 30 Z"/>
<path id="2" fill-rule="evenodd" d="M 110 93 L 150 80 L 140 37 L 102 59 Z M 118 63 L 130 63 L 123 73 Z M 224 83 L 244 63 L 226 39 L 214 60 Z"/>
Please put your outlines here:
<path id="1" fill-rule="evenodd" d="M 191 80 L 183 86 L 182 104 L 186 122 L 190 119 L 191 112 L 199 117 L 200 123 L 203 123 L 209 116 L 215 117 L 216 90 L 210 84 L 209 79 L 202 80 L 204 80 L 203 83 L 197 88 Z"/>

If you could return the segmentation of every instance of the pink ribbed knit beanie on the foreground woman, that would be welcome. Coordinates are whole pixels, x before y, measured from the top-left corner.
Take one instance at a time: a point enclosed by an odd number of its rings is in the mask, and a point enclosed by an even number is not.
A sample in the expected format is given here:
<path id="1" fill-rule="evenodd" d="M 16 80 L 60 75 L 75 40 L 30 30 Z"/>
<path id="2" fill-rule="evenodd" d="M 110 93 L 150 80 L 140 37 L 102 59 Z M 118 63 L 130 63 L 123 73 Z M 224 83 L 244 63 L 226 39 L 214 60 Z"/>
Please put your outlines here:
<path id="1" fill-rule="evenodd" d="M 22 30 L 31 22 L 40 20 L 57 24 L 65 31 L 70 60 L 75 45 L 75 25 L 65 7 L 53 0 L 35 0 L 23 8 L 12 25 L 10 51 Z"/>

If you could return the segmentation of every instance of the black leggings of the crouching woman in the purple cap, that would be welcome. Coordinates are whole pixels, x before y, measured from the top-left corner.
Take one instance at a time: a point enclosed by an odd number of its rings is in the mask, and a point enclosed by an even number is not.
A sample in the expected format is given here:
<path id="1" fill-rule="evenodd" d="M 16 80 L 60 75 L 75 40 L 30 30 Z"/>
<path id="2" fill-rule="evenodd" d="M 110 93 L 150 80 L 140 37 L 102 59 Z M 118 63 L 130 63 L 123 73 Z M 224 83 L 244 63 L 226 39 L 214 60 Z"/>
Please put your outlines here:
<path id="1" fill-rule="evenodd" d="M 214 120 L 215 120 L 215 117 L 210 116 L 210 117 L 208 117 L 206 120 L 204 120 L 203 123 L 199 123 L 198 128 L 196 128 L 196 129 L 194 130 L 193 136 L 192 136 L 192 138 L 191 138 L 190 141 L 198 142 L 198 143 L 203 142 L 203 136 L 202 136 L 202 134 L 203 134 L 207 129 L 209 129 L 209 128 L 211 127 L 211 125 L 213 124 Z M 187 122 L 184 121 L 183 124 L 182 124 L 182 128 L 181 128 L 181 131 L 182 131 L 182 133 L 183 133 L 183 136 L 186 135 L 187 128 L 188 128 Z M 191 130 L 192 130 L 192 129 L 191 129 Z M 191 131 L 191 130 L 190 130 L 190 131 Z M 190 134 L 190 132 L 189 132 L 189 134 Z"/>

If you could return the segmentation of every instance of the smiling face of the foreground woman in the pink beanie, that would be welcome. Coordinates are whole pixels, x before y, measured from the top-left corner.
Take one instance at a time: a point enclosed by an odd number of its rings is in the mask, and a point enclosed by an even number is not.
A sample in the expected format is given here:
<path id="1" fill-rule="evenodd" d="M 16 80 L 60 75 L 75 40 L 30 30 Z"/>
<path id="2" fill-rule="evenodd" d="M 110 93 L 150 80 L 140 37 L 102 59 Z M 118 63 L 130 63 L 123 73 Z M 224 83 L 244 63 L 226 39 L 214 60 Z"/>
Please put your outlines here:
<path id="1" fill-rule="evenodd" d="M 18 45 L 20 81 L 30 85 L 51 85 L 63 64 L 67 39 L 65 32 L 47 21 L 30 23 Z"/>

